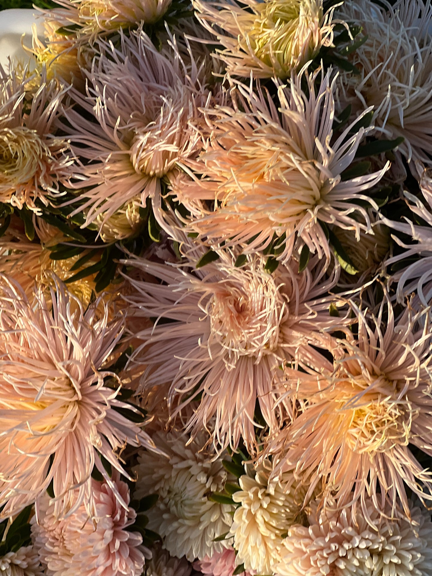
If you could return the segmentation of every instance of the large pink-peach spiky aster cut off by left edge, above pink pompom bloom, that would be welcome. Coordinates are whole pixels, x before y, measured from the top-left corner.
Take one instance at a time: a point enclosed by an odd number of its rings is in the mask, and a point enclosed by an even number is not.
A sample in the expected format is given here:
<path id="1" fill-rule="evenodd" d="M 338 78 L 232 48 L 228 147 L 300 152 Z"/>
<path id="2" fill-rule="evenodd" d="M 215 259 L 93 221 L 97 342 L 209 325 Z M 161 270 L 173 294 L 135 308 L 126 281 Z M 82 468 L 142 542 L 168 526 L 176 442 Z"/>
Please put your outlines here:
<path id="1" fill-rule="evenodd" d="M 118 450 L 126 443 L 153 446 L 122 415 L 133 408 L 116 400 L 118 389 L 104 385 L 104 378 L 112 377 L 105 362 L 122 335 L 123 319 L 109 322 L 107 306 L 104 314 L 98 310 L 100 299 L 84 312 L 61 283 L 55 289 L 48 305 L 43 289 L 29 299 L 19 285 L 2 278 L 2 518 L 35 502 L 51 482 L 56 517 L 82 503 L 91 516 L 94 467 L 111 486 L 98 454 L 127 476 Z"/>

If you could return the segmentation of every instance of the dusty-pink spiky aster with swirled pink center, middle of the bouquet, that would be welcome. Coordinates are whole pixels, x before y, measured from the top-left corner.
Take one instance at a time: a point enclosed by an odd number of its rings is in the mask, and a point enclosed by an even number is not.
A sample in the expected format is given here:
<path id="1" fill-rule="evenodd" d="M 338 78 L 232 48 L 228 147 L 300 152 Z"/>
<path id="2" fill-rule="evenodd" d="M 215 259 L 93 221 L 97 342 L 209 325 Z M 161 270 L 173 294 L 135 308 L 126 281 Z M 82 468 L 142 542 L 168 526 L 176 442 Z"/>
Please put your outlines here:
<path id="1" fill-rule="evenodd" d="M 203 249 L 185 241 L 182 250 L 187 249 L 185 266 L 195 267 Z M 309 344 L 318 341 L 316 332 L 335 323 L 328 310 L 337 298 L 326 296 L 339 267 L 323 280 L 323 266 L 316 259 L 300 275 L 294 261 L 270 274 L 260 256 L 248 256 L 238 267 L 234 253 L 217 255 L 217 262 L 193 274 L 185 266 L 144 259 L 124 262 L 158 280 L 130 279 L 131 295 L 124 298 L 135 318 L 170 320 L 134 335 L 142 344 L 131 365 L 143 366 L 141 389 L 170 386 L 173 416 L 202 395 L 187 422 L 192 435 L 207 428 L 215 416 L 215 446 L 230 444 L 235 449 L 243 438 L 252 453 L 256 403 L 271 430 L 285 418 L 282 405 L 274 408 L 274 388 L 283 379 L 281 366 L 295 358 L 312 365 L 319 362 L 321 355 Z"/>

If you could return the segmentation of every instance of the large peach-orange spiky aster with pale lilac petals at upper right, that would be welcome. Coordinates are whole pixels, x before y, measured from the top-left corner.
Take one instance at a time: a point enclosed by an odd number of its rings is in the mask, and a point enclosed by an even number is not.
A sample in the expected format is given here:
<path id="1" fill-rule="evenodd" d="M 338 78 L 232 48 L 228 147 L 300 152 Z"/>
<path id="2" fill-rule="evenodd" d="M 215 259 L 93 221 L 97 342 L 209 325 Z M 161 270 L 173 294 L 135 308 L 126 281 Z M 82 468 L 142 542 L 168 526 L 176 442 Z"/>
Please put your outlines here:
<path id="1" fill-rule="evenodd" d="M 369 215 L 358 200 L 376 203 L 364 192 L 372 188 L 389 164 L 376 173 L 342 181 L 354 160 L 365 129 L 350 135 L 354 123 L 335 141 L 334 81 L 330 71 L 315 90 L 318 71 L 305 78 L 309 96 L 301 89 L 302 75 L 290 88 L 278 86 L 279 109 L 264 91 L 237 84 L 232 108 L 206 109 L 208 132 L 196 170 L 203 174 L 183 181 L 175 192 L 191 211 L 190 229 L 210 242 L 264 249 L 274 234 L 285 236 L 278 259 L 287 259 L 297 240 L 311 252 L 330 258 L 320 221 L 343 229 L 371 232 Z M 241 111 L 244 110 L 244 111 Z M 214 202 L 207 210 L 202 200 Z M 366 225 L 358 222 L 361 215 Z"/>

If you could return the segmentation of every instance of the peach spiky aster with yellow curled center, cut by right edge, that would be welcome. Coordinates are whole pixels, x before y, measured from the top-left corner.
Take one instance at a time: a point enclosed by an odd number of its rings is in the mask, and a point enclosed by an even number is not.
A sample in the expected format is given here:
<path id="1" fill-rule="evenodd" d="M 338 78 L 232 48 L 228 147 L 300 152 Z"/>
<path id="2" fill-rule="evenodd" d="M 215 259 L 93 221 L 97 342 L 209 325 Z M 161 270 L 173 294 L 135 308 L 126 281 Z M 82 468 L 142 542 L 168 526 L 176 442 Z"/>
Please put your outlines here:
<path id="1" fill-rule="evenodd" d="M 351 306 L 358 340 L 340 340 L 333 364 L 323 358 L 317 370 L 286 369 L 287 394 L 297 400 L 298 414 L 269 440 L 267 451 L 275 454 L 276 476 L 306 476 L 305 501 L 322 482 L 324 504 L 334 496 L 339 506 L 360 502 L 364 513 L 366 494 L 375 494 L 379 485 L 376 509 L 388 502 L 392 515 L 409 516 L 404 484 L 422 501 L 432 499 L 432 472 L 408 446 L 431 452 L 429 309 L 415 313 L 408 307 L 395 323 L 385 294 L 371 328 L 365 313 Z M 396 507 L 398 496 L 403 511 Z"/>

